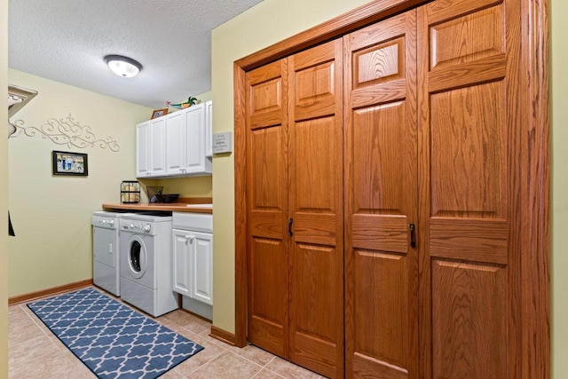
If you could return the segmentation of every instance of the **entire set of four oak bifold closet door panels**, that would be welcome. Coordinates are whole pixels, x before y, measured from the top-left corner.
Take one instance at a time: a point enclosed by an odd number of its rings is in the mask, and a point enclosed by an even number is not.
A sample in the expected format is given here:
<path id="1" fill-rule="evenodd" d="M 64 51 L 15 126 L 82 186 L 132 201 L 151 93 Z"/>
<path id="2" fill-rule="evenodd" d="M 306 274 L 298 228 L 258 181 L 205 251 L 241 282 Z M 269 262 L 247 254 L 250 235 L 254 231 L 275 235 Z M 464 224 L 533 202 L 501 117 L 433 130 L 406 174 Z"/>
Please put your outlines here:
<path id="1" fill-rule="evenodd" d="M 329 377 L 524 377 L 520 20 L 432 1 L 246 73 L 250 343 Z"/>

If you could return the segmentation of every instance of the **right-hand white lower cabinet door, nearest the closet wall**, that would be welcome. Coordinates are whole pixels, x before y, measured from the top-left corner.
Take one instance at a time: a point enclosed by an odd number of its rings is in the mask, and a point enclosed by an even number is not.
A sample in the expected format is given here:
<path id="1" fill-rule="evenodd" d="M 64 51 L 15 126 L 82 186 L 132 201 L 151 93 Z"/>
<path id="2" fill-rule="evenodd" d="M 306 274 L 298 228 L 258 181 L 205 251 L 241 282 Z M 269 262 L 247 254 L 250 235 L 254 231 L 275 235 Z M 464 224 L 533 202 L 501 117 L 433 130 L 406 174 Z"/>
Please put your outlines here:
<path id="1" fill-rule="evenodd" d="M 213 305 L 213 234 L 191 234 L 190 297 Z"/>

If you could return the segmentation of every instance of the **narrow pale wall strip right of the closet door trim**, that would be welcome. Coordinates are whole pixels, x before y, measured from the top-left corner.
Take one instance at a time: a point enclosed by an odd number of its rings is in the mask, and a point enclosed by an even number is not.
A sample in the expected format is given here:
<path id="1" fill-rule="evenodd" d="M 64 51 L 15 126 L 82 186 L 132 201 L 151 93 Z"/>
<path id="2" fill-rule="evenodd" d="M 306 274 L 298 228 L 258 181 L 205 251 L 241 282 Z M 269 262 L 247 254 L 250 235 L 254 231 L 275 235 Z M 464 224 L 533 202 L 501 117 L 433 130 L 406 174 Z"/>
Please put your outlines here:
<path id="1" fill-rule="evenodd" d="M 552 370 L 554 378 L 568 377 L 568 2 L 549 0 L 551 15 L 552 89 Z"/>

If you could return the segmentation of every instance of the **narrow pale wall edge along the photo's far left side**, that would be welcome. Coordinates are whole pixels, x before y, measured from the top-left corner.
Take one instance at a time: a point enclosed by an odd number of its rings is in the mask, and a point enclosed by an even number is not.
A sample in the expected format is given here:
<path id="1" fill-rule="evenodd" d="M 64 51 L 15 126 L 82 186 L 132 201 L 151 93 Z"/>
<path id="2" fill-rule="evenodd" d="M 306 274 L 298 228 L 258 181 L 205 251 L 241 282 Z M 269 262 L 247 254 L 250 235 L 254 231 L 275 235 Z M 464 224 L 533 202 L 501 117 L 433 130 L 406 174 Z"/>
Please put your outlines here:
<path id="1" fill-rule="evenodd" d="M 0 0 L 0 98 L 8 97 L 8 0 Z M 8 118 L 8 108 L 0 107 L 0 120 Z M 5 121 L 3 122 L 5 128 Z M 2 132 L 0 132 L 0 135 Z M 0 183 L 8 181 L 8 139 L 0 137 Z M 8 377 L 8 189 L 0 186 L 0 379 Z"/>

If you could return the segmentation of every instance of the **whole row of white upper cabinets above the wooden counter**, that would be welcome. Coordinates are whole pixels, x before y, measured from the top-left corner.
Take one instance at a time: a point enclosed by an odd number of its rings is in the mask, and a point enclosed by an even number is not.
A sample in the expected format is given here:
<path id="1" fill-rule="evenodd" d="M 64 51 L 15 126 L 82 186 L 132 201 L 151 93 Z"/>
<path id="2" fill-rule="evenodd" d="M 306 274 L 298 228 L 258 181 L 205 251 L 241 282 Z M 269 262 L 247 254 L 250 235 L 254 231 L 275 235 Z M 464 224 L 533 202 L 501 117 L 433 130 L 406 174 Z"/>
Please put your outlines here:
<path id="1" fill-rule="evenodd" d="M 210 101 L 139 123 L 137 177 L 211 175 L 208 111 Z"/>

